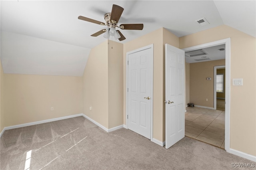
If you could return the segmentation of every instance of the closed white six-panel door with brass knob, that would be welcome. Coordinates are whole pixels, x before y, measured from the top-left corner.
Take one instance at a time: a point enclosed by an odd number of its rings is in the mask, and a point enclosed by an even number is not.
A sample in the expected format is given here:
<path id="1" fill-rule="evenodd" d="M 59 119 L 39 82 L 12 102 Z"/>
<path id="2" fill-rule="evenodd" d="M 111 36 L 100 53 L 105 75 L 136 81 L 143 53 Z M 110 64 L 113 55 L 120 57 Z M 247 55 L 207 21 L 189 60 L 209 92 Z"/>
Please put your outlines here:
<path id="1" fill-rule="evenodd" d="M 150 139 L 151 49 L 128 54 L 128 129 Z"/>

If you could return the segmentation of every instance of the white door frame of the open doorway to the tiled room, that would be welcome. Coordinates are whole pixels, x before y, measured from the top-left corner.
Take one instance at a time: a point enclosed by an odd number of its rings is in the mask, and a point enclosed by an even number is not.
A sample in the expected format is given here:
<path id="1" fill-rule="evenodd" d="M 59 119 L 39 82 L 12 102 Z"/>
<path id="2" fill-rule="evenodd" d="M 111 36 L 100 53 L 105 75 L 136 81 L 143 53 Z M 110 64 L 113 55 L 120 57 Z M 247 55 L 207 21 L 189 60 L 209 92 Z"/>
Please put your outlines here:
<path id="1" fill-rule="evenodd" d="M 184 48 L 183 50 L 186 51 L 191 51 L 195 49 L 201 49 L 204 47 L 211 47 L 215 45 L 220 45 L 220 44 L 225 44 L 225 150 L 226 152 L 231 152 L 230 151 L 230 59 L 231 59 L 231 39 L 226 38 L 223 40 L 218 40 L 215 42 L 210 42 L 210 43 L 204 43 L 201 45 L 196 45 L 192 47 L 187 47 Z"/>

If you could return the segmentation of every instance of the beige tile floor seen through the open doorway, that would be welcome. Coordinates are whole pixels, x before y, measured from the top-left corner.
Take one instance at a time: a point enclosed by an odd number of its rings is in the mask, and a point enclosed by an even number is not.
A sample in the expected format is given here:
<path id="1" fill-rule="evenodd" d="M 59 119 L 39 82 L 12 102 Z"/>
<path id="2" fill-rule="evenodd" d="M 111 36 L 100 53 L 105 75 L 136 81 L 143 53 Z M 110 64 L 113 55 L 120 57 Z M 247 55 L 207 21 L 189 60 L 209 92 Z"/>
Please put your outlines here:
<path id="1" fill-rule="evenodd" d="M 185 113 L 185 136 L 225 147 L 225 111 L 187 107 Z"/>

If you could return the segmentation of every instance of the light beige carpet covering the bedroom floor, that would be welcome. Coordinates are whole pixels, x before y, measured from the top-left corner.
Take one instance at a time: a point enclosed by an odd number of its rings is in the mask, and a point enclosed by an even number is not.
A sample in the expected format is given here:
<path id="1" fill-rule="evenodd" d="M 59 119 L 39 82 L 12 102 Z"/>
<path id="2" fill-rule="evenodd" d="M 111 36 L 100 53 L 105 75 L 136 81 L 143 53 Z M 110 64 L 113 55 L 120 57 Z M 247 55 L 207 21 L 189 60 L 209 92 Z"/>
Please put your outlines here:
<path id="1" fill-rule="evenodd" d="M 84 117 L 6 130 L 0 142 L 1 170 L 234 170 L 232 163 L 254 163 L 189 137 L 165 149 L 125 128 L 107 133 Z"/>

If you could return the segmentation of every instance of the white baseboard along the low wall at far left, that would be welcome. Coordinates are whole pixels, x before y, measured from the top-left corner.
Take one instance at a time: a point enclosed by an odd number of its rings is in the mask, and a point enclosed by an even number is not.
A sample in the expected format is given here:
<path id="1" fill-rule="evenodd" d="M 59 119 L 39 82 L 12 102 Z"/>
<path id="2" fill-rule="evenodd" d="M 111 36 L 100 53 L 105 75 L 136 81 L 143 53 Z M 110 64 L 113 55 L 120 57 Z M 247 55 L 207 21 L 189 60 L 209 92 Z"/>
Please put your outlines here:
<path id="1" fill-rule="evenodd" d="M 0 137 L 2 136 L 2 134 L 4 133 L 5 130 L 9 130 L 9 129 L 13 129 L 13 128 L 20 128 L 20 127 L 27 127 L 27 126 L 32 126 L 32 125 L 38 125 L 38 124 L 42 124 L 42 123 L 48 123 L 48 122 L 53 122 L 53 121 L 59 121 L 62 119 L 69 119 L 72 117 L 78 117 L 78 116 L 83 116 L 84 114 L 80 113 L 77 115 L 70 115 L 70 116 L 65 116 L 65 117 L 59 117 L 59 118 L 54 118 L 54 119 L 47 119 L 44 121 L 37 121 L 37 122 L 31 122 L 31 123 L 24 123 L 21 125 L 14 125 L 14 126 L 10 126 L 10 127 L 4 127 L 4 129 L 2 130 L 2 132 L 0 133 Z"/>

